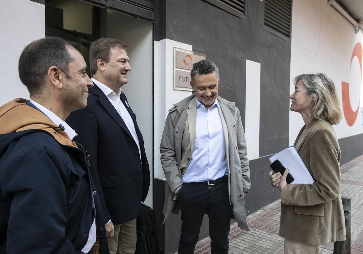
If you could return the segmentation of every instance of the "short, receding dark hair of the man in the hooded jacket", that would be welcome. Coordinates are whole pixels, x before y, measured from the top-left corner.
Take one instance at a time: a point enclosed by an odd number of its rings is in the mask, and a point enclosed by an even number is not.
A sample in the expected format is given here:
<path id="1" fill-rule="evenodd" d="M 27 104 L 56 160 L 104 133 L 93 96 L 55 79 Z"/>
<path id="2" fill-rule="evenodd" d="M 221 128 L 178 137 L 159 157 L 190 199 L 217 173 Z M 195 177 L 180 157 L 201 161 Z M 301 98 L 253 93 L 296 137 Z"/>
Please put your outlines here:
<path id="1" fill-rule="evenodd" d="M 45 37 L 28 44 L 19 58 L 19 78 L 30 96 L 41 93 L 48 69 L 58 67 L 69 78 L 68 65 L 74 59 L 67 47 L 80 50 L 81 45 L 58 37 Z"/>

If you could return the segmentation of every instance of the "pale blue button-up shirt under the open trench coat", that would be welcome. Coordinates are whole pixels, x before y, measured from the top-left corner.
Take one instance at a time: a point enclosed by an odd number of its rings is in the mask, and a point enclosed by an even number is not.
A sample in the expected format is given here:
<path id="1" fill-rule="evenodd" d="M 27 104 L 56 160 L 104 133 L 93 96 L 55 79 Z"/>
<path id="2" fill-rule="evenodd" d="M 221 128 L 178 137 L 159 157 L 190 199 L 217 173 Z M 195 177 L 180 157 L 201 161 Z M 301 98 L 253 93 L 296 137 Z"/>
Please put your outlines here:
<path id="1" fill-rule="evenodd" d="M 183 175 L 183 183 L 216 180 L 227 173 L 223 126 L 217 99 L 208 110 L 195 99 L 195 143 L 192 160 Z"/>

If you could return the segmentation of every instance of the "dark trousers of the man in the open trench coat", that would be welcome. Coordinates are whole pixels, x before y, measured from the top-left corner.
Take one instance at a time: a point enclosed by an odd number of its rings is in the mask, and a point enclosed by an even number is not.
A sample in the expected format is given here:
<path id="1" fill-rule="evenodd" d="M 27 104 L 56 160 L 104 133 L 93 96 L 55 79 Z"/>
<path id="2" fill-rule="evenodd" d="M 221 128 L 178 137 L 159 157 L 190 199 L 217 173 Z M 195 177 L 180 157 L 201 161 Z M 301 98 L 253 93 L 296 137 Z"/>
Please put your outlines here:
<path id="1" fill-rule="evenodd" d="M 227 181 L 212 186 L 183 183 L 178 200 L 182 221 L 178 253 L 194 253 L 204 214 L 209 218 L 211 253 L 228 253 L 232 206 L 229 204 Z"/>

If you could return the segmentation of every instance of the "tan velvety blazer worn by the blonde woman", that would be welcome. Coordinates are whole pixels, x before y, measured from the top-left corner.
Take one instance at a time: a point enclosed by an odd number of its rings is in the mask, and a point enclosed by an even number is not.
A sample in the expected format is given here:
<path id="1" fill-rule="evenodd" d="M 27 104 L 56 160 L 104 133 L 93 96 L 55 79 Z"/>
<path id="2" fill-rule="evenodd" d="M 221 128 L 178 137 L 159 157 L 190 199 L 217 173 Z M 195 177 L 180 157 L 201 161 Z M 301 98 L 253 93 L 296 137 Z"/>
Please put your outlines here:
<path id="1" fill-rule="evenodd" d="M 280 236 L 313 245 L 343 241 L 340 148 L 333 127 L 313 119 L 302 127 L 294 146 L 315 182 L 282 189 Z"/>

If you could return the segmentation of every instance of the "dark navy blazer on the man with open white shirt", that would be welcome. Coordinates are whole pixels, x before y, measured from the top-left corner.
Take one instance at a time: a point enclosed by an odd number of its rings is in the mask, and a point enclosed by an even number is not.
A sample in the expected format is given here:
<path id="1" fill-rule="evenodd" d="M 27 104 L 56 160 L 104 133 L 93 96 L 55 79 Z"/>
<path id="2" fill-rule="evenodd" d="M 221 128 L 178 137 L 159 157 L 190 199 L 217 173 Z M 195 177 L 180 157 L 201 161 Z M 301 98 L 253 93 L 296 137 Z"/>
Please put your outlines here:
<path id="1" fill-rule="evenodd" d="M 125 94 L 121 101 L 134 121 L 139 149 L 119 113 L 99 87 L 89 89 L 87 107 L 74 111 L 66 122 L 74 138 L 90 154 L 91 175 L 99 192 L 105 221 L 123 224 L 134 220 L 150 186 L 144 141 Z"/>

